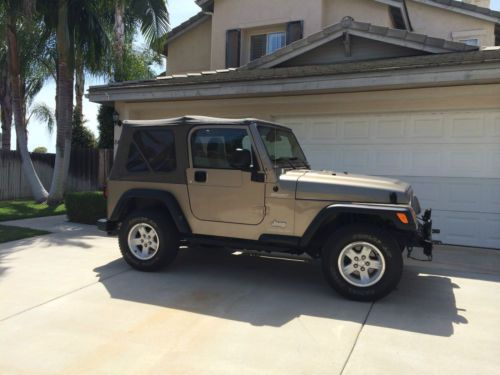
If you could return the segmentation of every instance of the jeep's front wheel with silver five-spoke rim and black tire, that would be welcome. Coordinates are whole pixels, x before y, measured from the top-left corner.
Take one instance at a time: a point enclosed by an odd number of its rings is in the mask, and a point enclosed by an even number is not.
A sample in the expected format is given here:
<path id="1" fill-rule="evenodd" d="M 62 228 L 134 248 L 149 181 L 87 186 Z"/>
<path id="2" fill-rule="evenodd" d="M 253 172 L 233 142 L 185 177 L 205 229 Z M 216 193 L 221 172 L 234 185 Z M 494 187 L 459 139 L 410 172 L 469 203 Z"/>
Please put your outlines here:
<path id="1" fill-rule="evenodd" d="M 397 241 L 383 230 L 350 226 L 333 233 L 323 251 L 323 272 L 341 295 L 374 301 L 399 283 L 403 258 Z"/>

